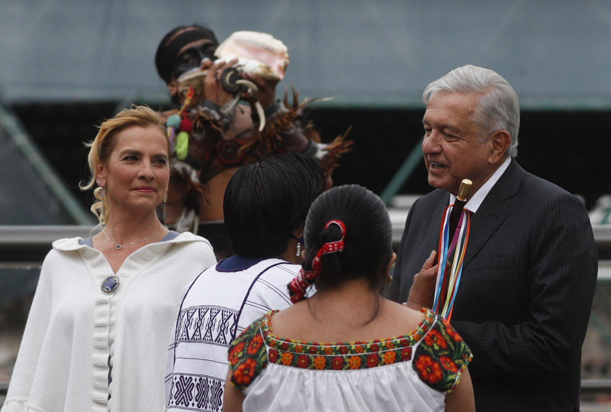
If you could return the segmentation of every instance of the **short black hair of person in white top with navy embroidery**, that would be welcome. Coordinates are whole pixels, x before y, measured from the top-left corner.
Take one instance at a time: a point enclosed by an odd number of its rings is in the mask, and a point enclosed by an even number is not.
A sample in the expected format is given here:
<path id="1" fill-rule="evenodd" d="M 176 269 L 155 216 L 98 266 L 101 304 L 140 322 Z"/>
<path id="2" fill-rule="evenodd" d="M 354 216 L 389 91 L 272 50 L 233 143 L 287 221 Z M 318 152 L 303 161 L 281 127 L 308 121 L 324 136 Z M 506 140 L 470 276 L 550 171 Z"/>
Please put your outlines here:
<path id="1" fill-rule="evenodd" d="M 310 156 L 276 154 L 239 168 L 223 199 L 235 253 L 245 258 L 283 253 L 324 187 L 323 170 Z"/>

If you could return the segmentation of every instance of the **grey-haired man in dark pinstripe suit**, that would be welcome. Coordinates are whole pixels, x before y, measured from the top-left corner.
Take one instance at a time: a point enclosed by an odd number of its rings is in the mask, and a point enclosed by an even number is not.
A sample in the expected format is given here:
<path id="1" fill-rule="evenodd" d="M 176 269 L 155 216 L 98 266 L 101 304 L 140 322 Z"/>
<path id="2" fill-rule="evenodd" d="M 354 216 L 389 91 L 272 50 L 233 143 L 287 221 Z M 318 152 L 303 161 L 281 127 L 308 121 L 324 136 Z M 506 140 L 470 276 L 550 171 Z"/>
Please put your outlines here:
<path id="1" fill-rule="evenodd" d="M 477 410 L 578 411 L 598 271 L 584 205 L 515 161 L 518 96 L 499 74 L 459 67 L 428 85 L 423 99 L 422 151 L 437 189 L 409 211 L 389 298 L 431 307 L 436 268 L 420 267 L 438 247 L 444 209 L 471 179 L 451 323 L 474 354 Z"/>

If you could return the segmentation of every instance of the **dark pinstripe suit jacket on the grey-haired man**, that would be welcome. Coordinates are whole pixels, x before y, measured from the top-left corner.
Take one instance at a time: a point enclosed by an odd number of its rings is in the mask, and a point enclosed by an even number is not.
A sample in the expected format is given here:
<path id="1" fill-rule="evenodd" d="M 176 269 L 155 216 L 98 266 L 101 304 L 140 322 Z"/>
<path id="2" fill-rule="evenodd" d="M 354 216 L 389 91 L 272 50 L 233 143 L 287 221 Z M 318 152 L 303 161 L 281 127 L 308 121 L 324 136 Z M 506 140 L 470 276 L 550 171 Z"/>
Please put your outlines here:
<path id="1" fill-rule="evenodd" d="M 409 212 L 389 298 L 405 302 L 437 250 L 448 192 Z M 478 412 L 578 411 L 598 259 L 584 205 L 515 160 L 471 220 L 452 325 L 474 354 Z"/>

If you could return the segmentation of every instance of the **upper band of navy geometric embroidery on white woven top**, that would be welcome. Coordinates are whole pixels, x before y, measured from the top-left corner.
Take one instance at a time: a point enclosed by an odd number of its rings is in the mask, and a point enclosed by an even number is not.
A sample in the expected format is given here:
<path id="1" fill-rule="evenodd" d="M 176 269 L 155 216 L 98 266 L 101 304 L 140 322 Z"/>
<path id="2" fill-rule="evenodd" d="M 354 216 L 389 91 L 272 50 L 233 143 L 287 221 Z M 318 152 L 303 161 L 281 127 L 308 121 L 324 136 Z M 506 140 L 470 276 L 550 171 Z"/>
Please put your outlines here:
<path id="1" fill-rule="evenodd" d="M 238 312 L 218 306 L 191 306 L 180 313 L 178 342 L 208 342 L 229 346 Z"/>

